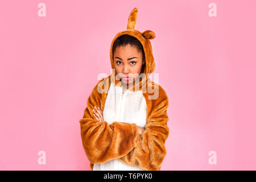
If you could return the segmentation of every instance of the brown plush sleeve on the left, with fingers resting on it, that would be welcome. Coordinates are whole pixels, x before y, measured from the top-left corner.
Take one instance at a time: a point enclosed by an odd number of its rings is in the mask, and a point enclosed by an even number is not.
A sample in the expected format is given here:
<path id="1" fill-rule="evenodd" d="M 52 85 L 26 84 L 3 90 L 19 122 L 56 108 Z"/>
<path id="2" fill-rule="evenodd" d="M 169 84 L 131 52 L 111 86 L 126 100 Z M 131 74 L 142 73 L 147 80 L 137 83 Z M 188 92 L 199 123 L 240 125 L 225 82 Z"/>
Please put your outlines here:
<path id="1" fill-rule="evenodd" d="M 82 146 L 90 163 L 105 163 L 121 158 L 136 146 L 138 129 L 135 123 L 114 121 L 108 124 L 93 117 L 93 107 L 101 110 L 105 105 L 106 93 L 98 92 L 98 84 L 90 94 L 84 116 L 80 119 Z"/>

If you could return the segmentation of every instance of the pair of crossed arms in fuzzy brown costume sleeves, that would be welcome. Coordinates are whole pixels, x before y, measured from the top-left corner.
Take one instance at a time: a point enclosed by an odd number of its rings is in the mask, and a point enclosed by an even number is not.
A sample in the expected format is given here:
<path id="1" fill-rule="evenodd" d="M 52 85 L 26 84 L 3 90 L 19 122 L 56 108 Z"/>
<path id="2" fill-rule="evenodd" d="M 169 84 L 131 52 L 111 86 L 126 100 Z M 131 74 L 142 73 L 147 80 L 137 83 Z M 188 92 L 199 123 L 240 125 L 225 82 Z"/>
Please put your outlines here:
<path id="1" fill-rule="evenodd" d="M 101 110 L 94 107 L 104 105 L 102 96 L 97 93 L 96 85 L 88 98 L 84 117 L 80 119 L 82 144 L 90 163 L 119 159 L 131 166 L 160 170 L 166 156 L 164 143 L 169 134 L 168 97 L 164 90 L 159 89 L 157 100 L 146 100 L 146 129 L 140 129 L 135 123 L 115 121 L 109 125 Z"/>

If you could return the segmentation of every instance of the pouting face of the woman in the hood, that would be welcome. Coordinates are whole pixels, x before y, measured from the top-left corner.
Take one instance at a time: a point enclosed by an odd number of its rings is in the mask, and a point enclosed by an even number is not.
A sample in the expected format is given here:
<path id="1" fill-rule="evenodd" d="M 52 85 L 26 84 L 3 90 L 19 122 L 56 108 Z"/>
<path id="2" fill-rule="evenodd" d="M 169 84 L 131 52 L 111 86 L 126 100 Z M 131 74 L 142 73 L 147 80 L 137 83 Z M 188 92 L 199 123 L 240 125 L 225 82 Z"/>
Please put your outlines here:
<path id="1" fill-rule="evenodd" d="M 125 47 L 115 48 L 114 68 L 123 84 L 133 83 L 141 74 L 143 64 L 145 61 L 142 60 L 142 52 L 137 47 L 127 44 Z"/>

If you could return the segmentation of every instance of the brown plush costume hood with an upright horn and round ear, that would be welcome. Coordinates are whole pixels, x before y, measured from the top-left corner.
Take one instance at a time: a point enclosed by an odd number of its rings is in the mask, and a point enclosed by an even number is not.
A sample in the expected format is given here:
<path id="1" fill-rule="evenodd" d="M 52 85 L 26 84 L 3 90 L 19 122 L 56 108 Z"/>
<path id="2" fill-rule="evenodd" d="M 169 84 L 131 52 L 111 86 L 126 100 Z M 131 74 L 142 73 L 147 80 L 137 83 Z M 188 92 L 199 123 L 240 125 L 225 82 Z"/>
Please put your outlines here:
<path id="1" fill-rule="evenodd" d="M 144 53 L 145 53 L 146 67 L 142 67 L 142 73 L 144 73 L 144 75 L 142 78 L 140 78 L 140 81 L 135 82 L 135 84 L 128 89 L 134 92 L 137 90 L 142 90 L 143 86 L 146 86 L 145 83 L 148 80 L 150 80 L 150 78 L 148 77 L 152 72 L 154 72 L 154 69 L 155 69 L 155 60 L 152 54 L 152 46 L 150 42 L 150 39 L 155 38 L 155 33 L 152 32 L 151 30 L 146 30 L 144 32 L 135 30 L 137 15 L 138 15 L 138 9 L 137 7 L 135 7 L 129 15 L 126 30 L 118 32 L 114 36 L 114 39 L 112 40 L 111 47 L 110 47 L 110 61 L 111 61 L 111 67 L 112 67 L 111 81 L 115 82 L 115 86 L 122 86 L 121 81 L 116 79 L 118 78 L 118 76 L 117 76 L 117 73 L 114 71 L 114 60 L 113 60 L 113 52 L 112 52 L 113 44 L 119 36 L 125 35 L 125 34 L 133 36 L 134 38 L 137 38 L 139 42 L 141 42 L 144 49 Z"/>

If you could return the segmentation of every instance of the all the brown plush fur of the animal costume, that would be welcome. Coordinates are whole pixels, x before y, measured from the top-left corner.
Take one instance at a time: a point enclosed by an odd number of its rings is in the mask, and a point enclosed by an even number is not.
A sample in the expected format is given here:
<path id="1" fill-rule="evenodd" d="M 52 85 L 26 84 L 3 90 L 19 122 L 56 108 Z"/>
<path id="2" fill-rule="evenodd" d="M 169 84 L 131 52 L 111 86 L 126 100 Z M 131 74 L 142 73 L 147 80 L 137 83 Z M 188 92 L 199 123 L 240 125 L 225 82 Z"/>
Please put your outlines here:
<path id="1" fill-rule="evenodd" d="M 127 30 L 118 32 L 114 37 L 110 48 L 110 60 L 114 69 L 112 47 L 114 40 L 119 36 L 128 34 L 142 43 L 146 57 L 146 67 L 143 68 L 143 73 L 146 76 L 129 90 L 134 90 L 135 86 L 139 86 L 140 90 L 146 90 L 146 92 L 143 92 L 147 104 L 146 129 L 140 135 L 135 123 L 115 121 L 109 125 L 106 121 L 98 122 L 93 117 L 92 109 L 96 106 L 101 111 L 104 110 L 110 81 L 114 81 L 115 86 L 122 86 L 121 81 L 115 80 L 116 73 L 98 81 L 88 98 L 84 116 L 79 121 L 82 145 L 92 170 L 94 163 L 105 163 L 112 159 L 119 159 L 130 166 L 139 166 L 149 171 L 159 171 L 166 156 L 164 143 L 169 134 L 167 126 L 168 97 L 159 84 L 152 82 L 148 78 L 155 69 L 152 46 L 149 40 L 154 39 L 155 34 L 150 30 L 142 33 L 134 29 L 137 14 L 138 9 L 133 9 L 128 19 Z M 158 92 L 156 99 L 149 99 L 155 93 L 148 92 L 148 84 L 153 89 L 155 87 L 158 88 L 155 89 Z"/>

